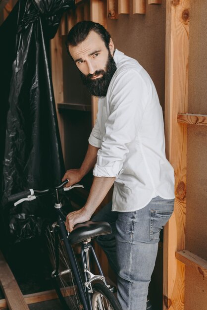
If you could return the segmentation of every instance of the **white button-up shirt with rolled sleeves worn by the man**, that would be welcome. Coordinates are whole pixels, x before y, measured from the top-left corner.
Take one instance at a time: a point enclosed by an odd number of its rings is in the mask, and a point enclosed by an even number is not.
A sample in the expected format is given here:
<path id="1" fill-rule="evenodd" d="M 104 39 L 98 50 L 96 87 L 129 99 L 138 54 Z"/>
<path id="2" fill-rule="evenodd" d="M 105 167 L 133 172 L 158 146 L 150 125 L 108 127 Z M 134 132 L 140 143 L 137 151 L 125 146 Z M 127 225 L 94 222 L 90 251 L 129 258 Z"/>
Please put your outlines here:
<path id="1" fill-rule="evenodd" d="M 162 108 L 145 69 L 118 50 L 117 70 L 99 99 L 89 143 L 100 148 L 94 176 L 116 177 L 112 210 L 135 211 L 152 198 L 174 198 L 174 171 L 165 156 Z"/>

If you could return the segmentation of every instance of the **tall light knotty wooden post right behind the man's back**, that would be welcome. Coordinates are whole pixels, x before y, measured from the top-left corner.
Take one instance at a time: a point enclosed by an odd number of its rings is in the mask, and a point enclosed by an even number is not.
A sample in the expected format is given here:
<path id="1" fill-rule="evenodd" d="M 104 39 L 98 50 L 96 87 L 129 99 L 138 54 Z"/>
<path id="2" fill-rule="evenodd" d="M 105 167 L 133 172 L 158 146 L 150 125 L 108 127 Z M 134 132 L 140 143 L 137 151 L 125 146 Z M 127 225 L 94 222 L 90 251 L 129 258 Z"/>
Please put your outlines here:
<path id="1" fill-rule="evenodd" d="M 175 211 L 164 229 L 163 309 L 184 309 L 187 126 L 177 114 L 188 106 L 189 0 L 166 0 L 165 140 L 175 170 Z"/>

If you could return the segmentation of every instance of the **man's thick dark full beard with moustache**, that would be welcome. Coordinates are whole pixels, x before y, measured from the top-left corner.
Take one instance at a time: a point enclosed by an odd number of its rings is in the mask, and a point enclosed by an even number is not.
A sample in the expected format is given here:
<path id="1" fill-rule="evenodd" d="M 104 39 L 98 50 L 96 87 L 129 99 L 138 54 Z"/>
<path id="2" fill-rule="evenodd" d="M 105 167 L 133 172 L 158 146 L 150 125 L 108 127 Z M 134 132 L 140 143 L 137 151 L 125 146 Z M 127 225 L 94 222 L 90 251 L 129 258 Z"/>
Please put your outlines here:
<path id="1" fill-rule="evenodd" d="M 108 52 L 108 60 L 105 66 L 105 70 L 97 70 L 94 74 L 85 75 L 80 72 L 83 84 L 88 88 L 91 95 L 95 97 L 105 97 L 107 94 L 108 86 L 116 71 L 116 64 L 113 57 Z M 102 74 L 101 78 L 92 80 L 95 75 Z"/>

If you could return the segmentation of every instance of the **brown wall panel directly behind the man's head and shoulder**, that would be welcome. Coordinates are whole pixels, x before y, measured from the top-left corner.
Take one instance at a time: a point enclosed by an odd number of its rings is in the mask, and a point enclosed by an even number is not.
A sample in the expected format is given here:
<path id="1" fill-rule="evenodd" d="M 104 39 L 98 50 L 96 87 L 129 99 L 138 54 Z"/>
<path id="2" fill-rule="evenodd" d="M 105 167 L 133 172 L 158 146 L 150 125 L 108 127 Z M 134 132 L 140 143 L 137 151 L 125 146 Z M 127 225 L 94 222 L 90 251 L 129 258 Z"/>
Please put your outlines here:
<path id="1" fill-rule="evenodd" d="M 133 14 L 132 1 L 129 2 L 129 14 L 107 19 L 107 30 L 115 48 L 137 59 L 150 74 L 164 108 L 165 1 L 161 5 L 146 1 L 145 14 Z"/>

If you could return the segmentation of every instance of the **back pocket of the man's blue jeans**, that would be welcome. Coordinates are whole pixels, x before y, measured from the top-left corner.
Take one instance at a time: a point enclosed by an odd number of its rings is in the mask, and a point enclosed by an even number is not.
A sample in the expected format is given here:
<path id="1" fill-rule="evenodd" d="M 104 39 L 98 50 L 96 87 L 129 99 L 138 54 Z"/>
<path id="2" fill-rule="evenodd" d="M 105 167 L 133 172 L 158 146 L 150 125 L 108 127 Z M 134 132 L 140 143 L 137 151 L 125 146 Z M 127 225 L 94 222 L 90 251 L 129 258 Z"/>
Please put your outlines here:
<path id="1" fill-rule="evenodd" d="M 172 215 L 172 211 L 150 210 L 150 240 L 159 241 L 159 233 Z"/>

